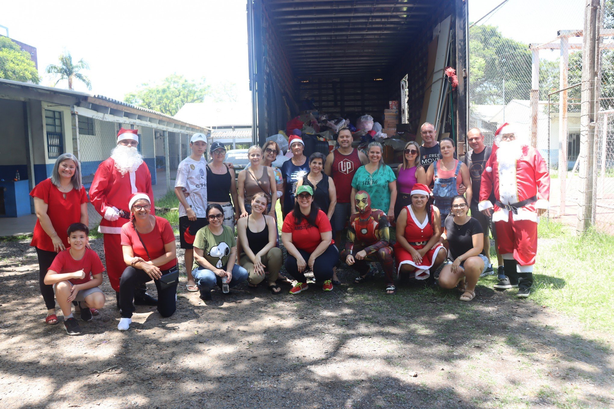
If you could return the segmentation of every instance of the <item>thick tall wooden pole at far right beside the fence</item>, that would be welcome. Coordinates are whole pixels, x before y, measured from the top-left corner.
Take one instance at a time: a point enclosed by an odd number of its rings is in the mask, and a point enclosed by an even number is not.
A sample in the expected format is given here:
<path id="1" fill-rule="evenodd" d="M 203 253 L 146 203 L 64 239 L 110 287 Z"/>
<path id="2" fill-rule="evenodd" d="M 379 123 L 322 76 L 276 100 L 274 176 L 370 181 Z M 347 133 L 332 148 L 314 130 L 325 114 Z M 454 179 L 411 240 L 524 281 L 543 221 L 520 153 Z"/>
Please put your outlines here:
<path id="1" fill-rule="evenodd" d="M 586 232 L 593 223 L 594 147 L 597 97 L 599 96 L 599 0 L 586 0 L 582 44 L 582 96 L 580 113 L 580 200 L 576 232 Z"/>

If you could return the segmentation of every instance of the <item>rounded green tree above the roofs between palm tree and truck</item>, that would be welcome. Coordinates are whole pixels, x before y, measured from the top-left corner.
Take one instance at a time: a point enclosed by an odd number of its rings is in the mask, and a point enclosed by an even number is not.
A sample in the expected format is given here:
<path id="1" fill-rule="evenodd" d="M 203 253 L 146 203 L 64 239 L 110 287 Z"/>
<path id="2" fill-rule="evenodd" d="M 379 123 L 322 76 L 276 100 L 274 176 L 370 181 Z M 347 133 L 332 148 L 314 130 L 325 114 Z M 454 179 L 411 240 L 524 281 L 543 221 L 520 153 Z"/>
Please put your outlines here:
<path id="1" fill-rule="evenodd" d="M 210 88 L 204 78 L 188 80 L 175 73 L 161 83 L 143 83 L 138 90 L 127 93 L 124 101 L 172 116 L 188 102 L 202 102 Z"/>

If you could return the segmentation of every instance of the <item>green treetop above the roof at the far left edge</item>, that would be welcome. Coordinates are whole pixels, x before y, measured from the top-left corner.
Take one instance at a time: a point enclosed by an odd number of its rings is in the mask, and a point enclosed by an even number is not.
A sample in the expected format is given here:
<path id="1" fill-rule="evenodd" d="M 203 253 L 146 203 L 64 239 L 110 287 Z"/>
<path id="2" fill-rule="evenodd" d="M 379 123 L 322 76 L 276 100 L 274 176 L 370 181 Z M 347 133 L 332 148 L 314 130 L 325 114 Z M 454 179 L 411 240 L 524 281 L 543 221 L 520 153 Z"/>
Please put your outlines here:
<path id="1" fill-rule="evenodd" d="M 0 36 L 0 78 L 35 84 L 41 80 L 30 54 L 4 36 Z"/>

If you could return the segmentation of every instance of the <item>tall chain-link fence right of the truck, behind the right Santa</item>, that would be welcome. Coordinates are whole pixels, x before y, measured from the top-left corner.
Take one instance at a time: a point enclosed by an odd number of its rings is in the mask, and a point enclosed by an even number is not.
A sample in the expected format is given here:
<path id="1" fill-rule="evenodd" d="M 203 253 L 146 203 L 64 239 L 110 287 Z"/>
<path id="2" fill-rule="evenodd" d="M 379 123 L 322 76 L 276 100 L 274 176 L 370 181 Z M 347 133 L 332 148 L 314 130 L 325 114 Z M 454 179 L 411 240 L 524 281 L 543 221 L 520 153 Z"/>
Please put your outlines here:
<path id="1" fill-rule="evenodd" d="M 516 32 L 505 36 L 499 28 L 505 27 L 510 14 L 521 7 L 519 1 L 508 1 L 470 26 L 469 126 L 483 129 L 487 145 L 492 144 L 495 130 L 505 122 L 516 125 L 524 142 L 532 142 L 531 90 L 537 89 L 534 143 L 551 172 L 549 216 L 576 226 L 583 183 L 578 172 L 582 140 L 581 86 L 567 90 L 566 97 L 565 91 L 560 90 L 581 83 L 585 1 L 544 0 L 539 6 L 548 4 L 551 7 L 547 16 L 527 12 L 523 20 L 523 25 L 539 28 L 535 32 L 551 33 L 550 38 L 536 38 L 534 43 L 518 40 L 527 39 L 524 32 L 525 35 Z M 605 6 L 603 27 L 614 28 L 614 0 L 602 4 Z M 559 26 L 564 13 L 577 15 L 577 26 Z M 611 37 L 602 36 L 602 39 L 607 44 Z M 600 115 L 594 151 L 598 177 L 593 220 L 599 229 L 614 233 L 614 50 L 602 48 L 601 55 Z M 538 64 L 537 84 L 534 62 Z"/>

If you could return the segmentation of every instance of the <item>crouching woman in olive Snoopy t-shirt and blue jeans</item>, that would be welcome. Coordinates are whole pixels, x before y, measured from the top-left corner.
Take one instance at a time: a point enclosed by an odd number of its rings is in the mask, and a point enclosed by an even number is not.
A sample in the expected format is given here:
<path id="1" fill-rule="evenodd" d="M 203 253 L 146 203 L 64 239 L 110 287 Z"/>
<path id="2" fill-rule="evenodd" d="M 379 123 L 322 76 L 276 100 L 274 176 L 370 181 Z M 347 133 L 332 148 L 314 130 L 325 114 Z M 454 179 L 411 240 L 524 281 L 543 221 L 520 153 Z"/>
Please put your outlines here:
<path id="1" fill-rule="evenodd" d="M 200 290 L 200 298 L 211 300 L 211 288 L 222 288 L 222 280 L 232 288 L 247 280 L 247 270 L 235 264 L 236 240 L 233 229 L 225 226 L 219 204 L 207 206 L 208 226 L 196 233 L 192 276 Z"/>

